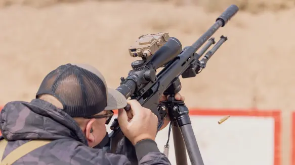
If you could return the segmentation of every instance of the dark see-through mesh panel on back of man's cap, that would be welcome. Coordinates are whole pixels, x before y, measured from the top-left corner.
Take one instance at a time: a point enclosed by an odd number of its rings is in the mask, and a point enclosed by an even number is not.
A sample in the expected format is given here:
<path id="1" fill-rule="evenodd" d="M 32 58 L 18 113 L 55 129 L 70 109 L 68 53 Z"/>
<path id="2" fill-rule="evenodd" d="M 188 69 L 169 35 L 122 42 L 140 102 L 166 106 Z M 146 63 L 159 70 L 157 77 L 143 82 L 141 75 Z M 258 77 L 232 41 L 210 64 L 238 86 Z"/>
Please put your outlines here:
<path id="1" fill-rule="evenodd" d="M 95 115 L 107 106 L 104 82 L 94 73 L 66 64 L 51 71 L 36 94 L 55 96 L 71 117 Z"/>

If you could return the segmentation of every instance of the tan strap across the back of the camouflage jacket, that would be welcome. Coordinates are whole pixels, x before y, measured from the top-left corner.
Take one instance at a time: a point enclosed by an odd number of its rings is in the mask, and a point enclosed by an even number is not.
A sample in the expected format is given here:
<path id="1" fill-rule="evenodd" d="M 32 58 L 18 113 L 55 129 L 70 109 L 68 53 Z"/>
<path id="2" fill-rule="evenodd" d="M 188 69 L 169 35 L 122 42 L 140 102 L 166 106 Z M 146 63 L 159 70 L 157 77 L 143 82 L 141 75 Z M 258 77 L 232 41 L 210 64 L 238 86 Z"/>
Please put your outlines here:
<path id="1" fill-rule="evenodd" d="M 43 145 L 46 145 L 50 143 L 50 140 L 31 140 L 23 145 L 19 146 L 12 152 L 10 152 L 3 160 L 3 153 L 5 151 L 6 145 L 8 141 L 6 139 L 3 139 L 0 141 L 0 165 L 11 165 L 13 164 L 16 160 L 24 156 L 25 154 L 31 152 L 32 150 L 41 147 Z M 2 161 L 1 161 L 2 160 Z"/>

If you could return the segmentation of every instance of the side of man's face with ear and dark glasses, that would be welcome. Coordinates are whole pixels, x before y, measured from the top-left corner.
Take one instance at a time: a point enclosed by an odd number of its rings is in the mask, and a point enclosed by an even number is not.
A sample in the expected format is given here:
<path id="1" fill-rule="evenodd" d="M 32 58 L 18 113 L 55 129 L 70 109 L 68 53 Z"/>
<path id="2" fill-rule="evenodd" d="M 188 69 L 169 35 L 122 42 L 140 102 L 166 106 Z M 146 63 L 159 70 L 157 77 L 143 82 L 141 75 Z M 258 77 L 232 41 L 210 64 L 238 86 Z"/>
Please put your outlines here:
<path id="1" fill-rule="evenodd" d="M 101 117 L 98 119 L 95 119 L 95 122 L 93 123 L 92 129 L 93 129 L 93 138 L 95 141 L 91 142 L 90 146 L 96 146 L 98 145 L 102 139 L 106 135 L 106 121 L 110 120 L 110 116 L 112 116 L 112 111 L 102 111 L 101 113 L 98 113 L 94 116 Z"/>

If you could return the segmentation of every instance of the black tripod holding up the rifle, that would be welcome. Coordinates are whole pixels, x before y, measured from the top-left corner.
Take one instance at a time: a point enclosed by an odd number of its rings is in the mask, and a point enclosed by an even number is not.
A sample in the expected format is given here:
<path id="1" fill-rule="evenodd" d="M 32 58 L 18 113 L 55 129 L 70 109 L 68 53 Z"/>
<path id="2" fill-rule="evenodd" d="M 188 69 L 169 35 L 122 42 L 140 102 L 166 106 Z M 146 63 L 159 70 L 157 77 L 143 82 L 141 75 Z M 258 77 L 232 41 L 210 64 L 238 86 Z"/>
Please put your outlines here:
<path id="1" fill-rule="evenodd" d="M 181 90 L 181 82 L 176 78 L 164 92 L 167 101 L 161 102 L 159 108 L 168 109 L 172 124 L 175 157 L 177 165 L 187 165 L 186 150 L 192 165 L 204 165 L 201 152 L 191 126 L 189 110 L 183 101 L 176 101 L 175 94 Z M 171 130 L 169 130 L 171 131 Z"/>

